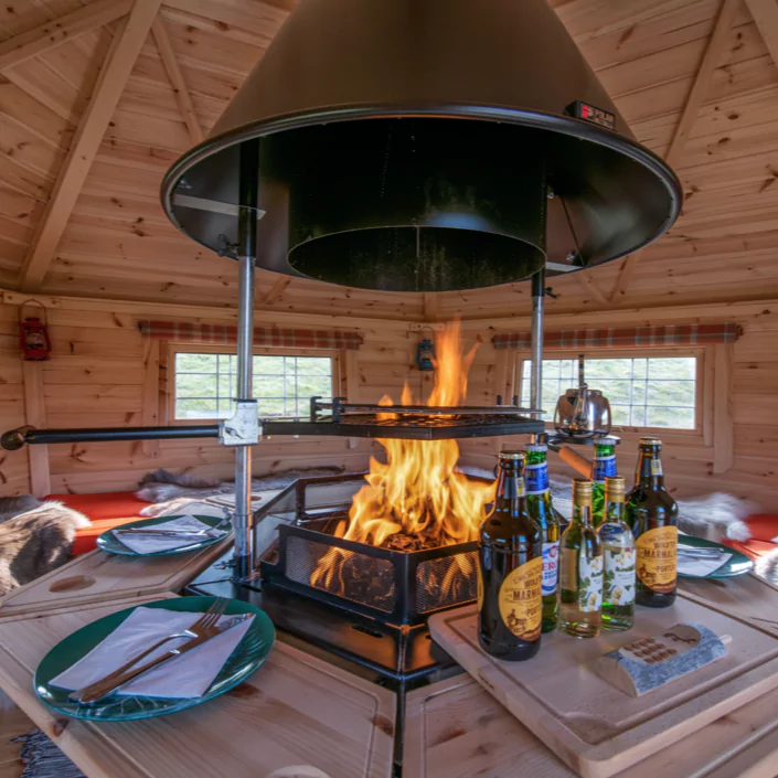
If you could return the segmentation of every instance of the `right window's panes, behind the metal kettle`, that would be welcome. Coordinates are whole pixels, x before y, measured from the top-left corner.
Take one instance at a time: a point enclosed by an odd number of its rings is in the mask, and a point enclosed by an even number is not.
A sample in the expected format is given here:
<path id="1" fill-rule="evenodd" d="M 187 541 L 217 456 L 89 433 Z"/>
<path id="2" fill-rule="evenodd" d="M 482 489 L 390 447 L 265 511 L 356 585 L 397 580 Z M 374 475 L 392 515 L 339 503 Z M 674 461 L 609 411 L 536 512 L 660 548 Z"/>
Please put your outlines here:
<path id="1" fill-rule="evenodd" d="M 587 359 L 586 383 L 610 402 L 614 425 L 695 429 L 697 358 Z M 530 402 L 531 361 L 524 360 L 522 405 Z M 578 385 L 577 359 L 543 360 L 542 407 L 553 419 L 559 395 Z"/>

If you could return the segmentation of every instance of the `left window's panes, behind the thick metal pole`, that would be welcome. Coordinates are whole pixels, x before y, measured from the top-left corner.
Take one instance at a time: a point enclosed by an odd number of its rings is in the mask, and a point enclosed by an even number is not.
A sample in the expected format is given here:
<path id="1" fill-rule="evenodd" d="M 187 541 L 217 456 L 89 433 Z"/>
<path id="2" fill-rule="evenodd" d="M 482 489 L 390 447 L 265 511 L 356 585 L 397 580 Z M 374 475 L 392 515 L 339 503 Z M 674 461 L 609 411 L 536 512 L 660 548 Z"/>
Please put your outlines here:
<path id="1" fill-rule="evenodd" d="M 173 359 L 174 419 L 232 416 L 237 381 L 235 354 L 178 351 Z M 311 397 L 332 397 L 332 365 L 331 356 L 255 354 L 254 397 L 259 416 L 308 416 Z"/>

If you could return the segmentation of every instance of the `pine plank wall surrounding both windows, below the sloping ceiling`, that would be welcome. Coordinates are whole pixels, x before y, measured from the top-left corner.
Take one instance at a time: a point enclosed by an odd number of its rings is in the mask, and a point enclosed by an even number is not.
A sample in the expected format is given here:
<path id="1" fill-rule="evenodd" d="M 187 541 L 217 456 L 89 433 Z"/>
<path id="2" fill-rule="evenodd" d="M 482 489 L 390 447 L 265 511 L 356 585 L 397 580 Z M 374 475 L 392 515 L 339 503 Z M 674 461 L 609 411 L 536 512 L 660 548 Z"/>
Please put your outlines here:
<path id="1" fill-rule="evenodd" d="M 159 423 L 157 418 L 145 416 L 148 354 L 137 321 L 154 316 L 213 322 L 234 320 L 234 312 L 203 307 L 39 297 L 47 306 L 54 356 L 31 370 L 30 363 L 22 362 L 18 345 L 18 303 L 24 298 L 7 292 L 6 303 L 0 306 L 2 430 L 19 426 L 25 419 L 50 427 Z M 448 319 L 449 313 L 467 315 L 469 309 L 461 306 L 447 311 L 447 299 L 452 308 L 454 298 L 439 298 L 443 305 L 436 308 L 430 308 L 427 300 L 426 316 Z M 463 320 L 466 343 L 479 343 L 470 373 L 468 402 L 471 404 L 491 404 L 498 393 L 510 396 L 518 388 L 513 365 L 526 354 L 498 352 L 491 344 L 495 332 L 521 331 L 529 327 L 526 306 L 511 308 L 518 311 L 509 316 L 504 312 L 508 308 L 501 308 L 495 297 L 494 317 Z M 557 312 L 556 308 L 563 310 Z M 686 436 L 670 433 L 662 436 L 667 480 L 678 494 L 726 490 L 748 497 L 765 509 L 774 504 L 778 483 L 778 300 L 593 311 L 585 317 L 580 311 L 565 311 L 564 306 L 556 308 L 547 316 L 548 329 L 584 323 L 598 327 L 691 321 L 740 323 L 744 334 L 736 343 L 704 350 L 703 429 Z M 415 367 L 416 344 L 422 337 L 420 328 L 440 323 L 425 323 L 423 310 L 418 311 L 417 321 L 281 312 L 270 316 L 263 311 L 257 316 L 258 323 L 274 321 L 292 322 L 298 327 L 356 329 L 364 338 L 362 348 L 342 355 L 339 361 L 341 391 L 352 402 L 376 402 L 384 392 L 398 399 L 405 381 L 411 383 L 416 396 L 427 394 L 430 376 Z M 36 396 L 39 392 L 42 403 Z M 32 418 L 35 414 L 38 416 Z M 619 434 L 622 438 L 618 449 L 619 468 L 629 478 L 638 433 L 624 430 Z M 491 468 L 500 447 L 521 441 L 522 438 L 465 441 L 461 444 L 462 461 Z M 35 461 L 45 448 L 47 462 Z M 158 467 L 223 477 L 233 472 L 232 452 L 209 440 L 168 441 L 159 446 L 113 443 L 45 448 L 28 447 L 25 451 L 0 454 L 3 494 L 25 493 L 31 489 L 40 492 L 40 487 L 31 484 L 31 468 L 33 473 L 38 471 L 38 477 L 33 476 L 38 483 L 42 468 L 47 470 L 53 493 L 132 490 L 143 473 Z M 380 451 L 376 444 L 367 440 L 277 438 L 263 441 L 255 449 L 254 462 L 257 473 L 322 465 L 362 470 L 371 454 Z M 552 469 L 573 475 L 553 456 Z M 44 483 L 45 478 L 44 473 Z"/>

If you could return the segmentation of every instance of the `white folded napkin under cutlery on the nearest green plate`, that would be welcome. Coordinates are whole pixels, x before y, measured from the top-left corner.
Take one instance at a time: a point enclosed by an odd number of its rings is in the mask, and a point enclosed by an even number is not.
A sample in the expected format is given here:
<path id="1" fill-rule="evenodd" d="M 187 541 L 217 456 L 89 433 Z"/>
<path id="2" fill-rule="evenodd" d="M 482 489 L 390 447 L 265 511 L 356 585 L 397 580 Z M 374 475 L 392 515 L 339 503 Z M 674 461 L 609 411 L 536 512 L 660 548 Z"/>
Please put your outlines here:
<path id="1" fill-rule="evenodd" d="M 164 636 L 182 632 L 201 617 L 202 614 L 138 607 L 89 653 L 52 679 L 51 683 L 71 690 L 88 686 L 118 670 Z M 222 616 L 219 624 L 232 618 L 234 617 Z M 202 696 L 246 635 L 253 620 L 254 616 L 249 616 L 223 635 L 206 640 L 180 657 L 167 660 L 128 683 L 118 694 L 173 699 Z M 171 648 L 185 643 L 186 640 L 190 638 L 170 640 L 141 661 L 151 661 Z"/>

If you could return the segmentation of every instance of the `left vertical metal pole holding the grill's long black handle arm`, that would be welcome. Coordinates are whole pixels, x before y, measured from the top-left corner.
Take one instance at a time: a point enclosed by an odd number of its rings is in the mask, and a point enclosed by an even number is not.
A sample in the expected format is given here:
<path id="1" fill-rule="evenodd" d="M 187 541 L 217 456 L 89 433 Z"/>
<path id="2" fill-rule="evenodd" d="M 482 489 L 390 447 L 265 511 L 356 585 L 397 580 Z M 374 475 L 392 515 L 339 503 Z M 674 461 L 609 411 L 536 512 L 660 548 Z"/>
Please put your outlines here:
<path id="1" fill-rule="evenodd" d="M 257 201 L 259 141 L 241 146 L 237 309 L 237 399 L 251 399 L 254 363 L 254 270 L 257 258 Z M 254 565 L 252 554 L 252 447 L 235 450 L 234 575 L 245 579 Z"/>

